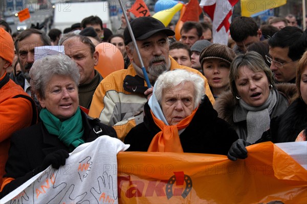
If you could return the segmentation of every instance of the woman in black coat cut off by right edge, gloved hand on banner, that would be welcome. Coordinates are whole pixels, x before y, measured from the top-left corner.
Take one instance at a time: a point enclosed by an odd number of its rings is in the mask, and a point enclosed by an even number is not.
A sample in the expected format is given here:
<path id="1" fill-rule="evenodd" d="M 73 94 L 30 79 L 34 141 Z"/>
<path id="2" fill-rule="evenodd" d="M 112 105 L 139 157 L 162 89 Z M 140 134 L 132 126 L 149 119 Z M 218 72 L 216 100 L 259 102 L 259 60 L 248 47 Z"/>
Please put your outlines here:
<path id="1" fill-rule="evenodd" d="M 287 84 L 281 85 L 282 87 L 287 86 Z M 286 90 L 289 90 L 289 87 Z M 293 103 L 283 114 L 271 120 L 270 129 L 264 132 L 261 139 L 256 143 L 266 141 L 274 143 L 298 142 L 307 140 L 307 52 L 304 53 L 298 62 L 296 88 L 297 93 Z M 238 139 L 231 145 L 228 151 L 228 158 L 233 161 L 247 158 L 248 152 L 245 147 L 248 145 L 249 143 Z"/>

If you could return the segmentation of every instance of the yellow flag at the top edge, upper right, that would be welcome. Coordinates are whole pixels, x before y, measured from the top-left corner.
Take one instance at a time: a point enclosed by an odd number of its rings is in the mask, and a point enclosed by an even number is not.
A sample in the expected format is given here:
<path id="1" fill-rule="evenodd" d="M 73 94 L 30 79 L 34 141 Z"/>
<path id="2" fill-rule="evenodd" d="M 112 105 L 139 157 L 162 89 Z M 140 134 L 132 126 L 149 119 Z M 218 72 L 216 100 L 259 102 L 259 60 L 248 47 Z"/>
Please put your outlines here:
<path id="1" fill-rule="evenodd" d="M 276 0 L 276 1 L 260 1 L 260 0 L 242 0 L 241 11 L 242 16 L 250 17 L 255 13 L 265 11 L 268 9 L 273 9 L 287 4 L 287 0 Z"/>

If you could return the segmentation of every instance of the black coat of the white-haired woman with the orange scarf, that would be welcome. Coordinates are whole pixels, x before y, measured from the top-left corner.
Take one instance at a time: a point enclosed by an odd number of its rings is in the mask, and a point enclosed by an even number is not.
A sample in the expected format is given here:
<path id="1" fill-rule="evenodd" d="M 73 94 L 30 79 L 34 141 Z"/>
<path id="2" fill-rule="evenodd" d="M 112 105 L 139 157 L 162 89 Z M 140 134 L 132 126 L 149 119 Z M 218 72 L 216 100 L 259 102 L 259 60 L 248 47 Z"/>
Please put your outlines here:
<path id="1" fill-rule="evenodd" d="M 128 151 L 147 151 L 151 140 L 160 132 L 153 121 L 150 108 L 144 106 L 144 122 L 135 126 L 125 137 Z M 227 155 L 231 144 L 238 139 L 233 128 L 217 117 L 207 96 L 203 99 L 189 126 L 180 134 L 184 152 Z"/>

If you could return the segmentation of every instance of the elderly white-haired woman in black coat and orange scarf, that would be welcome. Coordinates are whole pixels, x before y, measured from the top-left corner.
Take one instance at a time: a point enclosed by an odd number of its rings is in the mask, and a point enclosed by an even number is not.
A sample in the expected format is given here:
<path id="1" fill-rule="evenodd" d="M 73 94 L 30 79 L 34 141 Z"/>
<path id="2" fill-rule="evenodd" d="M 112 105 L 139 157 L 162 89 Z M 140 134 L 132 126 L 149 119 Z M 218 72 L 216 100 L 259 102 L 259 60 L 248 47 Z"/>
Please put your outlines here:
<path id="1" fill-rule="evenodd" d="M 204 93 L 198 74 L 182 69 L 161 74 L 144 106 L 144 122 L 125 137 L 128 151 L 227 155 L 238 136 Z"/>

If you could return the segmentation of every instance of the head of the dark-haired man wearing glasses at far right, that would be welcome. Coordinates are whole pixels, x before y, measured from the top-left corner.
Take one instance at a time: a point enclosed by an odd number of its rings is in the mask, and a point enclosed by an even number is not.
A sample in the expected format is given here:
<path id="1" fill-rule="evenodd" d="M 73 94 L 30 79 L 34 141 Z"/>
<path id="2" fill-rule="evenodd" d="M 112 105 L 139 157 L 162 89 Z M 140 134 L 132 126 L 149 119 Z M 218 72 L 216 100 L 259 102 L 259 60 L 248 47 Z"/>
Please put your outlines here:
<path id="1" fill-rule="evenodd" d="M 277 83 L 295 83 L 298 61 L 307 48 L 307 31 L 297 27 L 285 27 L 269 39 L 270 51 L 266 56 L 271 63 Z"/>

